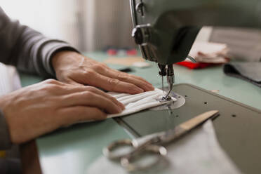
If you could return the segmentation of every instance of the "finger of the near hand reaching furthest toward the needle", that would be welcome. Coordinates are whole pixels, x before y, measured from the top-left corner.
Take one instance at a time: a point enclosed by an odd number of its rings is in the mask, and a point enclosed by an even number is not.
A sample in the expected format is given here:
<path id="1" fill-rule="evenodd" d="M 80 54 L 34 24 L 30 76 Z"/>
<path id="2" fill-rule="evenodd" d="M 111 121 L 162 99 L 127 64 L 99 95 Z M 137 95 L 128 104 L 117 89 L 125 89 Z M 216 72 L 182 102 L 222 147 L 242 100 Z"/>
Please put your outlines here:
<path id="1" fill-rule="evenodd" d="M 109 114 L 116 114 L 122 112 L 121 107 L 119 107 L 114 102 L 112 102 L 112 100 L 109 100 L 108 98 L 105 98 L 102 95 L 91 93 L 90 91 L 65 95 L 62 98 L 61 102 L 63 102 L 62 105 L 64 107 L 72 107 L 72 106 L 97 107 Z"/>

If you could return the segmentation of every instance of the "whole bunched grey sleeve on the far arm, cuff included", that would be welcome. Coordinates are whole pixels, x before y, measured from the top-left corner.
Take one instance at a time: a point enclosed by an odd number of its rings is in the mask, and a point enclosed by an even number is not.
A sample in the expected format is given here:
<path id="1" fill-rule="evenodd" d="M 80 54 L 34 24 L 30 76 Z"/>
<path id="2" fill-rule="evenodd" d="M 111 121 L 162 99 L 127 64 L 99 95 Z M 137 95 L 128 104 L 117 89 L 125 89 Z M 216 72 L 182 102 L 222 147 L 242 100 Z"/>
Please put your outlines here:
<path id="1" fill-rule="evenodd" d="M 76 51 L 65 41 L 48 39 L 17 20 L 11 20 L 0 7 L 0 62 L 14 65 L 23 72 L 54 77 L 51 58 L 60 50 Z"/>

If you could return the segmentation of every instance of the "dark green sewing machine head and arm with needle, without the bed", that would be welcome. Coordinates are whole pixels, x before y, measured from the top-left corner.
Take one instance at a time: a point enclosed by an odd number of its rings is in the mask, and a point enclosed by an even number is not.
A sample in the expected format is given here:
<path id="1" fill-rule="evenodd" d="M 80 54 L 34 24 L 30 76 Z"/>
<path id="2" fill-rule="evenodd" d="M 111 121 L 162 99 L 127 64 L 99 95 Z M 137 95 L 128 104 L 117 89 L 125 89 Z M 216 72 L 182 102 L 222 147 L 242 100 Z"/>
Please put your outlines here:
<path id="1" fill-rule="evenodd" d="M 163 86 L 173 89 L 173 63 L 189 58 L 190 48 L 203 26 L 261 27 L 258 0 L 131 0 L 133 33 L 142 57 L 157 62 Z"/>

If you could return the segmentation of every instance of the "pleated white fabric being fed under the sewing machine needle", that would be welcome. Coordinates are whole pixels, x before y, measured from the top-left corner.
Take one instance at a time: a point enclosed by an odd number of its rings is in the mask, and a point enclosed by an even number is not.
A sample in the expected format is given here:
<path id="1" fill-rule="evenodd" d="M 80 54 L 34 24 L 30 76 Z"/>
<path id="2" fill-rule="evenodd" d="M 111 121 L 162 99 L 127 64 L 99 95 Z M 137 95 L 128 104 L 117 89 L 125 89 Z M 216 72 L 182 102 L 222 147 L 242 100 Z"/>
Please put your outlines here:
<path id="1" fill-rule="evenodd" d="M 114 98 L 119 100 L 119 102 L 123 103 L 125 109 L 123 110 L 123 112 L 119 114 L 109 114 L 107 118 L 133 114 L 135 112 L 139 112 L 150 107 L 156 107 L 159 105 L 166 104 L 166 102 L 159 102 L 159 100 L 162 98 L 163 93 L 158 88 L 155 88 L 154 91 L 148 91 L 145 93 L 139 93 L 135 95 L 114 92 L 109 92 L 108 94 L 114 96 Z M 172 101 L 176 100 L 177 99 L 172 98 Z"/>

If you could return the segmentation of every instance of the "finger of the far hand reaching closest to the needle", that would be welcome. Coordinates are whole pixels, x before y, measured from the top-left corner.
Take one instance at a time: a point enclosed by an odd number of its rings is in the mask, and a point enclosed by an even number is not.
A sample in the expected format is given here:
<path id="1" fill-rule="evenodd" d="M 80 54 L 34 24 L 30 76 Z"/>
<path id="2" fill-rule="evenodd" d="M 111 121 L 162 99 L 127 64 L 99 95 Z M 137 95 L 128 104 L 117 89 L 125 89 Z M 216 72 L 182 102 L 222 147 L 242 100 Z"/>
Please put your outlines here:
<path id="1" fill-rule="evenodd" d="M 138 86 L 139 88 L 142 88 L 144 91 L 153 91 L 154 87 L 149 82 L 145 81 L 141 77 L 133 76 L 124 72 L 119 72 L 112 69 L 106 69 L 103 72 L 100 72 L 100 74 L 107 76 L 112 79 L 118 79 L 119 81 L 124 81 L 127 83 L 132 83 L 135 86 Z"/>

